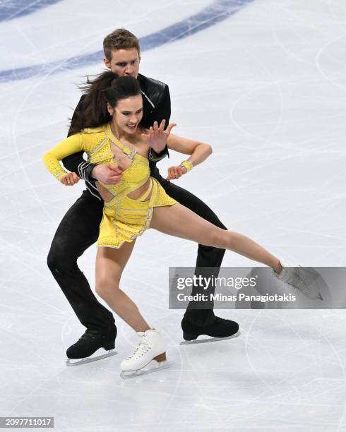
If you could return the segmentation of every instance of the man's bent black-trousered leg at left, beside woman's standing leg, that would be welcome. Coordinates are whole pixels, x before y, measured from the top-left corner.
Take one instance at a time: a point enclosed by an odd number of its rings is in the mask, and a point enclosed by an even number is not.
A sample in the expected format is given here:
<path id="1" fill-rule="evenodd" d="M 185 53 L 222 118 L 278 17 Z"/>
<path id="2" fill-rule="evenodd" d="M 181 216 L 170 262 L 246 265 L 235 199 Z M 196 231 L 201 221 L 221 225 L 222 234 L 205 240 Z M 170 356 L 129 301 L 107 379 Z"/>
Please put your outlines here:
<path id="1" fill-rule="evenodd" d="M 97 301 L 77 265 L 77 259 L 97 240 L 102 208 L 103 201 L 83 191 L 61 220 L 47 263 L 80 323 L 88 330 L 106 334 L 114 329 L 113 315 Z"/>

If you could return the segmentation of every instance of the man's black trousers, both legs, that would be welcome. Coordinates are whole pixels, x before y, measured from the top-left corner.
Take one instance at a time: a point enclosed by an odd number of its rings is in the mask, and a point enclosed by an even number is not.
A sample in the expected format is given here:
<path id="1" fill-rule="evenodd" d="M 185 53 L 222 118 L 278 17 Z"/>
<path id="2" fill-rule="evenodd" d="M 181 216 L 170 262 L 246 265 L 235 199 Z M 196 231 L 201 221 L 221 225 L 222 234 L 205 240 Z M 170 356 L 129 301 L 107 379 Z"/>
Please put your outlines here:
<path id="1" fill-rule="evenodd" d="M 192 193 L 162 177 L 157 179 L 169 196 L 217 227 L 226 229 L 213 210 Z M 83 252 L 97 241 L 102 208 L 102 200 L 95 198 L 89 191 L 83 191 L 82 196 L 61 220 L 52 241 L 47 263 L 80 323 L 90 330 L 107 332 L 107 329 L 114 325 L 113 315 L 97 301 L 88 280 L 77 265 L 77 260 Z M 199 272 L 198 268 L 220 268 L 224 253 L 224 249 L 199 245 L 196 273 Z M 203 275 L 205 276 L 205 272 Z M 213 275 L 217 276 L 215 273 Z M 198 292 L 198 289 L 200 288 L 194 287 L 193 293 Z M 212 287 L 211 292 L 215 292 L 215 287 Z M 210 305 L 210 309 L 202 310 L 196 309 L 196 304 L 190 302 L 185 316 L 196 325 L 209 324 L 214 319 L 213 305 Z"/>

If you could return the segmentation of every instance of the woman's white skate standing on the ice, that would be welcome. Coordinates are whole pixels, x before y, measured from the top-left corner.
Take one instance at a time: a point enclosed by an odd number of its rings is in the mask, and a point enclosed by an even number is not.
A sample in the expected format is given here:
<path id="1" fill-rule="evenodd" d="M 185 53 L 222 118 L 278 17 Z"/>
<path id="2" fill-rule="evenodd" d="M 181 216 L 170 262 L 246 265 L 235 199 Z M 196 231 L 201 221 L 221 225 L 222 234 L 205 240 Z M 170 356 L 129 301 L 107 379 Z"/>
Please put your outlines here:
<path id="1" fill-rule="evenodd" d="M 165 342 L 155 329 L 137 332 L 139 342 L 131 356 L 121 361 L 121 378 L 132 378 L 167 368 Z M 152 361 L 154 366 L 145 368 Z"/>

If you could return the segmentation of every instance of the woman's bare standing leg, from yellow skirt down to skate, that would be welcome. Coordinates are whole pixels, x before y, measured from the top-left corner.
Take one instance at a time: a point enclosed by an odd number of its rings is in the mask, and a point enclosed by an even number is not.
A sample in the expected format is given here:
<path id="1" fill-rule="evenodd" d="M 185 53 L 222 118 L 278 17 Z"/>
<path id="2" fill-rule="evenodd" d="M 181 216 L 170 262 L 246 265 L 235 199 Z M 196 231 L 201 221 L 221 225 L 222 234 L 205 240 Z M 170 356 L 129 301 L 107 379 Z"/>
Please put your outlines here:
<path id="1" fill-rule="evenodd" d="M 134 244 L 135 241 L 132 241 L 125 242 L 119 249 L 97 249 L 96 292 L 133 330 L 145 332 L 150 326 L 141 316 L 136 304 L 119 288 L 121 274 L 131 256 Z"/>

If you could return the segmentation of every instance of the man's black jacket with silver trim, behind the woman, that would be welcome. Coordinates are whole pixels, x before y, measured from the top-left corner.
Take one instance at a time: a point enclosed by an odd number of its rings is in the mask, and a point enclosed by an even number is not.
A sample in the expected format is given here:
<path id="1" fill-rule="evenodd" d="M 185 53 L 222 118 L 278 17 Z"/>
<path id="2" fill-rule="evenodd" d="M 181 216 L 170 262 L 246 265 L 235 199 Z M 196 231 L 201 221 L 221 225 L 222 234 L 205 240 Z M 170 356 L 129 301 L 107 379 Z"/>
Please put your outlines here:
<path id="1" fill-rule="evenodd" d="M 147 78 L 140 73 L 138 73 L 137 79 L 141 85 L 143 95 L 143 118 L 141 120 L 141 125 L 145 128 L 149 128 L 150 126 L 153 126 L 154 121 L 157 121 L 158 124 L 160 124 L 160 122 L 165 119 L 167 127 L 171 116 L 171 98 L 169 96 L 168 85 L 161 83 L 161 81 L 153 80 L 153 78 Z M 70 131 L 78 116 L 80 116 L 85 109 L 84 98 L 84 95 L 80 97 L 78 105 L 73 112 Z M 85 125 L 85 127 L 88 127 L 88 125 Z M 68 136 L 71 135 L 70 131 L 68 131 Z M 149 164 L 151 176 L 160 179 L 161 176 L 156 167 L 156 162 L 162 160 L 167 155 L 169 157 L 167 146 L 160 154 L 157 154 L 153 149 L 150 149 Z M 78 152 L 74 155 L 65 157 L 62 162 L 68 171 L 76 172 L 80 179 L 85 180 L 89 191 L 100 198 L 94 185 L 95 179 L 90 176 L 95 164 L 85 161 L 83 158 L 83 152 Z"/>

